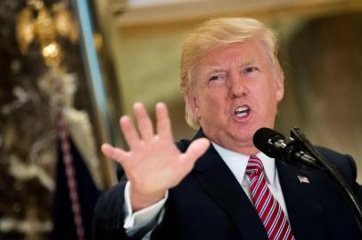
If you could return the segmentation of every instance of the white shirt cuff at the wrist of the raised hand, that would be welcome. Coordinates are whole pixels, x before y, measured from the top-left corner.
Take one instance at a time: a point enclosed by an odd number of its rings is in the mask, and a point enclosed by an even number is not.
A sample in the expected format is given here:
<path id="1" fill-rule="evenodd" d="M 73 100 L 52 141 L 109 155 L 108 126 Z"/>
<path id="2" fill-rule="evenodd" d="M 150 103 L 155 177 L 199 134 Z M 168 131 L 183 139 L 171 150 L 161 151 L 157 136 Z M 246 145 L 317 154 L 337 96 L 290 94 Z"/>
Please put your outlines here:
<path id="1" fill-rule="evenodd" d="M 132 212 L 129 187 L 130 182 L 128 181 L 125 188 L 125 204 L 123 205 L 123 210 L 126 216 L 123 228 L 125 228 L 127 232 L 133 232 L 137 229 L 148 226 L 152 221 L 156 220 L 156 217 L 162 210 L 167 198 L 169 197 L 169 191 L 167 191 L 165 197 L 160 199 L 160 201 L 156 204 L 152 204 L 151 206 L 148 206 L 137 212 Z"/>

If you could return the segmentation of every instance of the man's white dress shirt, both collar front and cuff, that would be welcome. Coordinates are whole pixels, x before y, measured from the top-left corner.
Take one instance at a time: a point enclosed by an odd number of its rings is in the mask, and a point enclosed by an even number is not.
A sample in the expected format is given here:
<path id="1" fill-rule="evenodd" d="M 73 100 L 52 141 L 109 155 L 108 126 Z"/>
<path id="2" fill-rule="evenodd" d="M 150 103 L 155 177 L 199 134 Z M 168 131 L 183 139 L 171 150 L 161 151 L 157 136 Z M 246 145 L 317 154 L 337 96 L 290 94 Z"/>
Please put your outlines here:
<path id="1" fill-rule="evenodd" d="M 249 177 L 245 174 L 246 166 L 248 164 L 250 156 L 245 156 L 243 154 L 230 151 L 226 148 L 222 148 L 214 142 L 211 143 L 218 152 L 218 155 L 221 156 L 221 158 L 224 160 L 230 171 L 233 172 L 235 179 L 243 188 L 246 196 L 248 196 L 251 200 L 251 193 L 249 190 Z M 267 178 L 267 187 L 269 188 L 272 195 L 276 198 L 276 201 L 278 201 L 278 203 L 282 207 L 285 216 L 288 218 L 288 212 L 286 211 L 284 196 L 276 170 L 276 160 L 274 158 L 266 156 L 261 152 L 259 152 L 256 156 L 258 156 L 260 161 L 263 163 L 265 176 Z M 128 236 L 132 236 L 134 233 L 137 232 L 137 230 L 144 228 L 152 221 L 155 221 L 154 227 L 156 227 L 157 224 L 160 223 L 163 217 L 163 206 L 168 198 L 169 193 L 167 192 L 166 196 L 158 203 L 153 204 L 140 211 L 132 212 L 129 185 L 130 183 L 128 181 L 125 188 L 125 204 L 123 206 L 123 211 L 125 212 L 126 216 L 123 227 L 126 229 Z M 144 236 L 143 240 L 149 239 L 151 232 L 152 231 Z"/>

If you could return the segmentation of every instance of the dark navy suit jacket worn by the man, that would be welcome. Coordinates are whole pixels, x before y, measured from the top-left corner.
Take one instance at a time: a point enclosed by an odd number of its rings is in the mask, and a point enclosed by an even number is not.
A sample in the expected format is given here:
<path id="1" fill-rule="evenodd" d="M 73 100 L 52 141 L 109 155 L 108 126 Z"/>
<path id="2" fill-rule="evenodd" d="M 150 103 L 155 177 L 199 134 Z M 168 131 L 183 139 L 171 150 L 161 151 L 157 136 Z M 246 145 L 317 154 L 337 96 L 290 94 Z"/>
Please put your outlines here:
<path id="1" fill-rule="evenodd" d="M 203 137 L 202 131 L 194 138 Z M 181 151 L 190 140 L 177 142 Z M 350 156 L 317 148 L 362 199 L 356 165 Z M 276 161 L 292 231 L 297 240 L 362 239 L 350 205 L 325 172 Z M 298 175 L 309 183 L 300 183 Z M 98 200 L 95 239 L 130 239 L 123 229 L 125 181 Z M 133 239 L 142 236 L 136 236 Z M 165 214 L 151 239 L 267 240 L 267 232 L 233 173 L 211 146 L 177 187 L 169 190 Z"/>

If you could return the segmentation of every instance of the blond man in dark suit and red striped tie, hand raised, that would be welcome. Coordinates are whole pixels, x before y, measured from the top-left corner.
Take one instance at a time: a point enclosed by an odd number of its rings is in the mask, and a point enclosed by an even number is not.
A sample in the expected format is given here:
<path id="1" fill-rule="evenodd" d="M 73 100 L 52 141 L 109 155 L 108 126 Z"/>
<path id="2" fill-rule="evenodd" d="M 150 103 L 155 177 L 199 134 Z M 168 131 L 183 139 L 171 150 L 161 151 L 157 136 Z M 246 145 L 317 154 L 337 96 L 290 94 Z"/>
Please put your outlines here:
<path id="1" fill-rule="evenodd" d="M 289 165 L 253 145 L 273 128 L 284 95 L 276 36 L 258 20 L 209 20 L 186 40 L 181 59 L 186 120 L 200 130 L 174 144 L 167 108 L 157 132 L 144 106 L 120 127 L 129 151 L 103 145 L 127 178 L 95 209 L 95 239 L 362 239 L 349 204 L 325 172 Z M 362 196 L 350 156 L 320 152 Z"/>

